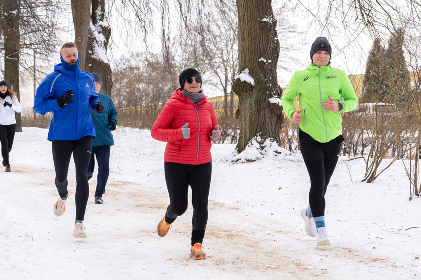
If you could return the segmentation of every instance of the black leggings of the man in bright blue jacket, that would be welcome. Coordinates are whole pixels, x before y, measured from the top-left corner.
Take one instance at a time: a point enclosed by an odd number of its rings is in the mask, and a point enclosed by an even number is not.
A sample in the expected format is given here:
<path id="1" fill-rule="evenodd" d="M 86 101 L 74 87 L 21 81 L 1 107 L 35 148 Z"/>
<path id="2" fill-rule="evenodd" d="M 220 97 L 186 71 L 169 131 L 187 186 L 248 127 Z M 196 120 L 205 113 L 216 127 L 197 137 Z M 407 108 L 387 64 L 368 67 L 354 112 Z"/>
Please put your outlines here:
<path id="1" fill-rule="evenodd" d="M 53 140 L 53 160 L 56 187 L 60 197 L 67 195 L 67 172 L 73 153 L 76 168 L 76 220 L 83 221 L 89 197 L 88 166 L 91 160 L 92 137 L 79 140 Z"/>

